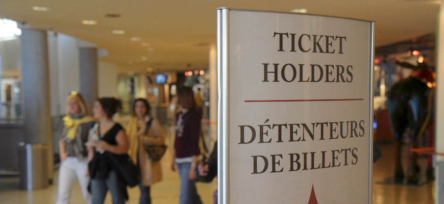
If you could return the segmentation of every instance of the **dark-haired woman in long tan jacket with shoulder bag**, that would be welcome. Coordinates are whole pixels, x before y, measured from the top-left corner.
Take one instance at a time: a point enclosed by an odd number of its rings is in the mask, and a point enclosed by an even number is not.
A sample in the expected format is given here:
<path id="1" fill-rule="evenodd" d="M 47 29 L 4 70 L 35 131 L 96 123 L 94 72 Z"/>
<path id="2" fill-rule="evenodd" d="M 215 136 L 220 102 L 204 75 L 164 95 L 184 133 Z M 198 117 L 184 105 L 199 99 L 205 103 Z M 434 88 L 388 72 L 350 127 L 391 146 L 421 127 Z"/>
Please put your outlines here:
<path id="1" fill-rule="evenodd" d="M 134 101 L 133 117 L 128 127 L 130 148 L 128 155 L 140 169 L 140 204 L 151 203 L 150 186 L 162 180 L 160 161 L 154 162 L 144 149 L 144 145 L 165 143 L 162 127 L 151 117 L 150 104 L 143 98 Z"/>

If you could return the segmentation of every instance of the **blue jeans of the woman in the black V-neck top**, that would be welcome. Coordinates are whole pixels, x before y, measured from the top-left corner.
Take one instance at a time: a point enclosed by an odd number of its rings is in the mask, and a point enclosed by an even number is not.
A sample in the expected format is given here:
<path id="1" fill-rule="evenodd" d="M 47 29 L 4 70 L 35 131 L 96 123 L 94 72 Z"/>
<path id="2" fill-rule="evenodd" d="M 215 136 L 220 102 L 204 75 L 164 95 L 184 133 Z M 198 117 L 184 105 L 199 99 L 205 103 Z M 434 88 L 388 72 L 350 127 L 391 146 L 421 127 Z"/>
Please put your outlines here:
<path id="1" fill-rule="evenodd" d="M 125 204 L 124 192 L 121 190 L 121 181 L 115 171 L 110 171 L 106 180 L 92 179 L 92 204 L 103 204 L 108 190 L 111 192 L 113 204 Z"/>

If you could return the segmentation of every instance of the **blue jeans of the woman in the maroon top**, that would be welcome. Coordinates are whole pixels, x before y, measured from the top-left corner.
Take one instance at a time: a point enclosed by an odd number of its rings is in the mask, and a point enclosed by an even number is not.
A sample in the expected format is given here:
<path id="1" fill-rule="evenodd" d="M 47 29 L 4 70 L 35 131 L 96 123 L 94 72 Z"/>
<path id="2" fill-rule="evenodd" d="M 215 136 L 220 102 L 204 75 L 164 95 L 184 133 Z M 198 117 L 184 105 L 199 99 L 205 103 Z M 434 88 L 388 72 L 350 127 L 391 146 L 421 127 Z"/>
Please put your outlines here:
<path id="1" fill-rule="evenodd" d="M 179 204 L 202 204 L 194 181 L 188 178 L 191 162 L 178 163 L 177 168 L 180 176 Z"/>

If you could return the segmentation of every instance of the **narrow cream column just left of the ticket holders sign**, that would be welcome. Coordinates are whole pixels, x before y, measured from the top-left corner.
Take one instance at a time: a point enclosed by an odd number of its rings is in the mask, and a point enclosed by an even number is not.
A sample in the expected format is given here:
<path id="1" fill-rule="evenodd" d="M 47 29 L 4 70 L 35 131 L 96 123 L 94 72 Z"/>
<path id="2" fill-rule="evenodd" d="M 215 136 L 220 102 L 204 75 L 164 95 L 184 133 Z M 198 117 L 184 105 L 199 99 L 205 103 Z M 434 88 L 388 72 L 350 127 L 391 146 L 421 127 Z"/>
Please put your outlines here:
<path id="1" fill-rule="evenodd" d="M 210 46 L 209 53 L 210 72 L 210 136 L 213 141 L 217 140 L 217 47 Z"/>

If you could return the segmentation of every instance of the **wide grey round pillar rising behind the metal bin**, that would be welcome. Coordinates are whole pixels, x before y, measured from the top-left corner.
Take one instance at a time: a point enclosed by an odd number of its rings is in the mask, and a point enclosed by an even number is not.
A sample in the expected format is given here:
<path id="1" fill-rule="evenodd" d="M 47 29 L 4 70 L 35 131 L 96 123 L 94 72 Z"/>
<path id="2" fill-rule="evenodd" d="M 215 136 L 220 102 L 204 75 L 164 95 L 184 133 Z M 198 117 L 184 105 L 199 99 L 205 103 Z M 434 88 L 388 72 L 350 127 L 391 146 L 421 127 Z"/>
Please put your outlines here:
<path id="1" fill-rule="evenodd" d="M 53 175 L 50 78 L 46 31 L 22 28 L 21 76 L 24 103 L 24 142 L 48 146 L 47 170 Z"/>

